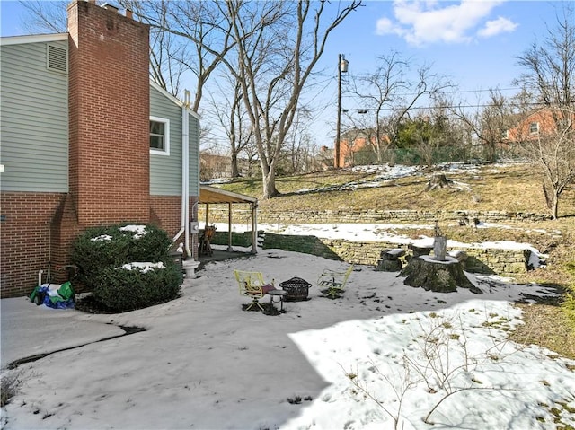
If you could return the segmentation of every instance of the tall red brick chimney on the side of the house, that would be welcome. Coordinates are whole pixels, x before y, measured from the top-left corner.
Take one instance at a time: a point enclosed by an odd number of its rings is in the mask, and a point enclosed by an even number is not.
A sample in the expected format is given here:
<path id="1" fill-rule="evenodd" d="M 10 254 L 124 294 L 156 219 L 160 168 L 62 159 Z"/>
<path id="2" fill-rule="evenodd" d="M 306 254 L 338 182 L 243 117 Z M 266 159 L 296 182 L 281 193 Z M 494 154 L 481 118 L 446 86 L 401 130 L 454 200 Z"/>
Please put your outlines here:
<path id="1" fill-rule="evenodd" d="M 69 189 L 80 227 L 146 223 L 149 27 L 93 0 L 68 6 Z"/>

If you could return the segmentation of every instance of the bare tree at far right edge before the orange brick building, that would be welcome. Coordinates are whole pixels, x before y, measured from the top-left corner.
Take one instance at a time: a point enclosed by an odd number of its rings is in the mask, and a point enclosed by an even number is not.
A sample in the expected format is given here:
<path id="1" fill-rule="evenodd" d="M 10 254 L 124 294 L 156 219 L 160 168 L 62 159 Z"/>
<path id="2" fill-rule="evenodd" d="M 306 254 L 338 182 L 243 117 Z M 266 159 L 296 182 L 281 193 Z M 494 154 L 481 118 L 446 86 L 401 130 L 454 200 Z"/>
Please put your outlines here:
<path id="1" fill-rule="evenodd" d="M 548 28 L 543 42 L 535 41 L 517 60 L 526 69 L 517 82 L 535 93 L 532 103 L 540 103 L 540 107 L 522 116 L 516 138 L 526 156 L 540 168 L 547 205 L 556 219 L 562 191 L 575 180 L 573 5 L 563 4 L 556 27 Z"/>

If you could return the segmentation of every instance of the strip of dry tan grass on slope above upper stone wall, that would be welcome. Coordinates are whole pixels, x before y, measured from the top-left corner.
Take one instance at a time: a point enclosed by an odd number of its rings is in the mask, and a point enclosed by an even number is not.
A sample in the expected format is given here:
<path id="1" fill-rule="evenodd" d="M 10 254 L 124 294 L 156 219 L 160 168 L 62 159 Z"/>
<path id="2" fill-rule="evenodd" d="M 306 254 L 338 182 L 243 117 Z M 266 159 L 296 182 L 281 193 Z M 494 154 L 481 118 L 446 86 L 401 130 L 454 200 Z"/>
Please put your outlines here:
<path id="1" fill-rule="evenodd" d="M 389 180 L 380 187 L 348 190 L 325 190 L 351 182 L 374 180 L 376 174 L 360 171 L 321 171 L 279 177 L 276 188 L 281 195 L 262 200 L 261 208 L 275 210 L 305 210 L 364 208 L 371 209 L 429 209 L 429 210 L 507 210 L 547 214 L 541 180 L 534 168 L 526 164 L 506 167 L 483 167 L 469 173 L 447 174 L 448 179 L 463 182 L 471 190 L 435 189 L 426 191 L 431 171 L 397 180 Z M 222 188 L 261 198 L 261 180 L 234 180 Z M 294 194 L 307 189 L 305 194 Z M 560 216 L 575 217 L 575 189 L 564 192 Z"/>

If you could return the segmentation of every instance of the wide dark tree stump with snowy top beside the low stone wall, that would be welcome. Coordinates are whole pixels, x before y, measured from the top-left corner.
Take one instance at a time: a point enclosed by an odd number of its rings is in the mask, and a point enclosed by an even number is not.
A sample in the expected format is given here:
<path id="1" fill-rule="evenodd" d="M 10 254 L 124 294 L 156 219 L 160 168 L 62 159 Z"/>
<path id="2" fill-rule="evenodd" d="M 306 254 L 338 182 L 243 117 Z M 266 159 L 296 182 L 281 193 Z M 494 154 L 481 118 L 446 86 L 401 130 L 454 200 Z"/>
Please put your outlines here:
<path id="1" fill-rule="evenodd" d="M 436 293 L 453 293 L 457 286 L 469 288 L 474 294 L 482 294 L 465 276 L 461 263 L 453 257 L 446 257 L 438 261 L 429 256 L 420 256 L 410 259 L 410 264 L 403 268 L 399 276 L 407 276 L 403 284 L 421 287 L 426 291 Z"/>

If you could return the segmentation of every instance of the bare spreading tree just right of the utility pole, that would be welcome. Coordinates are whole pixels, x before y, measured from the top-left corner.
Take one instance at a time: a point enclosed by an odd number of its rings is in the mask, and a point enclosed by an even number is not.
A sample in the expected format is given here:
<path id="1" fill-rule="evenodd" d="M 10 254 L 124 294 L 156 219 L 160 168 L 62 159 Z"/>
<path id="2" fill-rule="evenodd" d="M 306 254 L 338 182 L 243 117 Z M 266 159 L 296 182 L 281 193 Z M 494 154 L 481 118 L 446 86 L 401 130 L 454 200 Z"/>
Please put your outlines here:
<path id="1" fill-rule="evenodd" d="M 377 57 L 376 71 L 360 77 L 355 83 L 354 93 L 360 98 L 363 108 L 371 113 L 373 133 L 368 144 L 383 162 L 386 150 L 394 144 L 399 127 L 410 111 L 425 97 L 433 98 L 448 87 L 442 76 L 431 73 L 429 66 L 420 66 L 415 78 L 410 79 L 410 59 L 401 57 L 398 52 Z"/>

